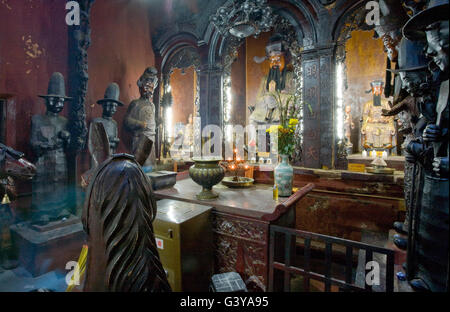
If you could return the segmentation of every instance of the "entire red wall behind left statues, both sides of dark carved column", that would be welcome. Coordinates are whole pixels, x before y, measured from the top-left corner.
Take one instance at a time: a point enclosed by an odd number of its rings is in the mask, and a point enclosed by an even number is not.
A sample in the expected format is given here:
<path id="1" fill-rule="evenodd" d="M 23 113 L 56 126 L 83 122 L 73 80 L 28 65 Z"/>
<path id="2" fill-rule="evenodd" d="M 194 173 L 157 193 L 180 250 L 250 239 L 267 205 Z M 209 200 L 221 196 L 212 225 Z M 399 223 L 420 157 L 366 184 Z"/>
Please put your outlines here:
<path id="1" fill-rule="evenodd" d="M 14 148 L 33 159 L 29 148 L 31 116 L 45 112 L 38 94 L 47 92 L 55 71 L 66 77 L 68 90 L 68 26 L 65 1 L 0 1 L 0 96 L 13 95 L 15 117 Z M 130 135 L 123 129 L 123 118 L 131 100 L 139 97 L 136 85 L 148 66 L 154 66 L 149 24 L 149 2 L 96 0 L 91 10 L 89 88 L 86 100 L 87 124 L 102 114 L 97 100 L 103 98 L 110 82 L 120 86 L 119 107 L 114 119 L 119 124 L 118 152 L 129 152 Z M 11 109 L 11 114 L 14 110 Z M 67 109 L 62 113 L 67 116 Z M 11 116 L 12 117 L 12 116 Z M 79 172 L 90 166 L 88 151 L 79 157 Z"/>

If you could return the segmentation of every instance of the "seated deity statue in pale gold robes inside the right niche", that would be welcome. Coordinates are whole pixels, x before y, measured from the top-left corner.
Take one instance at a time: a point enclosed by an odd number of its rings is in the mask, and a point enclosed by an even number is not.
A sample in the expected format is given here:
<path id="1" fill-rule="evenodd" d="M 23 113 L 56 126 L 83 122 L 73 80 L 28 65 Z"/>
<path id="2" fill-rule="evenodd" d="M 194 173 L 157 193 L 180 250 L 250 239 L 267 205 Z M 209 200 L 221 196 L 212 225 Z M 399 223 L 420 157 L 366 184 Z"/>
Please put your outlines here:
<path id="1" fill-rule="evenodd" d="M 373 99 L 364 104 L 362 113 L 361 140 L 365 149 L 390 150 L 395 147 L 394 117 L 383 116 L 383 110 L 389 110 L 387 100 L 382 99 L 383 82 L 371 83 Z"/>

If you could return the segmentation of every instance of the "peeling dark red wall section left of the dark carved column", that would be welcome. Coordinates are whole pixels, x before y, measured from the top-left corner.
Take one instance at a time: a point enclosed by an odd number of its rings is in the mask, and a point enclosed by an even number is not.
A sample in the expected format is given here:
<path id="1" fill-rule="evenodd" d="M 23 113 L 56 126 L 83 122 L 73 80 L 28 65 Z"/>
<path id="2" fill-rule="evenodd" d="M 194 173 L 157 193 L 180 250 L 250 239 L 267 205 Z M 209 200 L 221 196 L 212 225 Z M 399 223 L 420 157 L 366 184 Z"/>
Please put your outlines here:
<path id="1" fill-rule="evenodd" d="M 60 0 L 0 1 L 0 94 L 15 97 L 7 118 L 16 133 L 14 148 L 33 159 L 29 146 L 31 116 L 45 112 L 48 80 L 55 71 L 66 77 L 67 25 Z M 15 115 L 15 116 L 13 116 Z M 67 116 L 67 106 L 62 112 Z"/>

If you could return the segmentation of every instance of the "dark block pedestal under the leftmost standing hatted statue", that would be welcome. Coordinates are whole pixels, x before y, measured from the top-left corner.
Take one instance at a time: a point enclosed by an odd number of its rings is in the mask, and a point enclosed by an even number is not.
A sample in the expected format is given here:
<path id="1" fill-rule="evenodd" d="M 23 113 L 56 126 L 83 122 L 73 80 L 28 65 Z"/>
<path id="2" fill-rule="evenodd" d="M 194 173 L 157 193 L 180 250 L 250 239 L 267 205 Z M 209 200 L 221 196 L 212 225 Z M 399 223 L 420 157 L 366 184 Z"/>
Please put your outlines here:
<path id="1" fill-rule="evenodd" d="M 10 229 L 19 264 L 33 277 L 52 270 L 65 271 L 69 261 L 78 261 L 85 242 L 83 226 L 75 216 L 45 226 L 24 222 Z"/>

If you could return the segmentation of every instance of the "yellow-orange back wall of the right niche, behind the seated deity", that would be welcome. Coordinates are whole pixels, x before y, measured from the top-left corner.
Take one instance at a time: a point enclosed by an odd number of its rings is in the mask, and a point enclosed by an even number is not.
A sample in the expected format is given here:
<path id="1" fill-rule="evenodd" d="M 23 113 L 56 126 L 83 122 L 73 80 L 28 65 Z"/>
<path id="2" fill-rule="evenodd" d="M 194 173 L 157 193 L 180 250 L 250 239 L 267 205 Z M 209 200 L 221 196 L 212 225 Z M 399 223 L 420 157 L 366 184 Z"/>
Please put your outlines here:
<path id="1" fill-rule="evenodd" d="M 346 65 L 348 89 L 344 91 L 344 106 L 352 108 L 355 128 L 351 141 L 353 151 L 360 152 L 360 119 L 364 104 L 372 99 L 370 82 L 375 79 L 385 80 L 386 60 L 383 41 L 373 38 L 373 31 L 353 31 L 346 43 Z"/>

